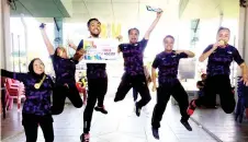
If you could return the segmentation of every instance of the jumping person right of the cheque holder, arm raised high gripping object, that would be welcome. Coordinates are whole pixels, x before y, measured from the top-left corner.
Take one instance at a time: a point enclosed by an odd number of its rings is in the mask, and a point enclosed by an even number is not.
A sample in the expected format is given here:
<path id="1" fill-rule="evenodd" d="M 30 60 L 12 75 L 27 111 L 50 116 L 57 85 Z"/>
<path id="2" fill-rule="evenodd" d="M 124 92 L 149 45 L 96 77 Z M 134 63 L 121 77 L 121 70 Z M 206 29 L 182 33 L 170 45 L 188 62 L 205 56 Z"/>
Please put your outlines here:
<path id="1" fill-rule="evenodd" d="M 129 43 L 119 45 L 119 52 L 123 52 L 125 72 L 117 87 L 114 102 L 124 99 L 131 87 L 135 88 L 142 96 L 142 99 L 135 104 L 135 113 L 138 117 L 142 107 L 150 100 L 150 93 L 144 73 L 143 54 L 147 46 L 150 33 L 160 20 L 161 14 L 162 12 L 157 13 L 156 20 L 140 42 L 138 42 L 139 31 L 137 28 L 131 28 L 128 29 Z"/>

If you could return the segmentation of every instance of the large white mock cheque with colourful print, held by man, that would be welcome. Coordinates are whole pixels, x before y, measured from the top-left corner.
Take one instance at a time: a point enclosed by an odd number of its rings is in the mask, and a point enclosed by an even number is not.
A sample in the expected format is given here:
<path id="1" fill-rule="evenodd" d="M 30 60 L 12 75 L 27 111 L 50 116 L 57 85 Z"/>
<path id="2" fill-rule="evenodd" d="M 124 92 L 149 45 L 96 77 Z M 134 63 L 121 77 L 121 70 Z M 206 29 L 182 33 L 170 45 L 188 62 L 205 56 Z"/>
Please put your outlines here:
<path id="1" fill-rule="evenodd" d="M 83 62 L 106 63 L 116 60 L 117 45 L 117 39 L 83 39 L 83 49 L 86 50 Z"/>

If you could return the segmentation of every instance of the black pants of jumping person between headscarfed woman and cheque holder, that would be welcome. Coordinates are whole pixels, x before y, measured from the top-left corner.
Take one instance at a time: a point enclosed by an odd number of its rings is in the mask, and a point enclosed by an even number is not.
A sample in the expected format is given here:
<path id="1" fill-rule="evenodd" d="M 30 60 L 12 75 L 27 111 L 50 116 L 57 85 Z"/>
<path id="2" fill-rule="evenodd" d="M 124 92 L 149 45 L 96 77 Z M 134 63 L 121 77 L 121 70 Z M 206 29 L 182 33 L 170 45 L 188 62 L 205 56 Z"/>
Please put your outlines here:
<path id="1" fill-rule="evenodd" d="M 53 92 L 53 106 L 52 113 L 53 115 L 59 115 L 64 110 L 66 97 L 70 99 L 72 105 L 77 108 L 82 107 L 82 99 L 80 94 L 75 85 L 70 85 L 69 87 L 57 85 Z"/>

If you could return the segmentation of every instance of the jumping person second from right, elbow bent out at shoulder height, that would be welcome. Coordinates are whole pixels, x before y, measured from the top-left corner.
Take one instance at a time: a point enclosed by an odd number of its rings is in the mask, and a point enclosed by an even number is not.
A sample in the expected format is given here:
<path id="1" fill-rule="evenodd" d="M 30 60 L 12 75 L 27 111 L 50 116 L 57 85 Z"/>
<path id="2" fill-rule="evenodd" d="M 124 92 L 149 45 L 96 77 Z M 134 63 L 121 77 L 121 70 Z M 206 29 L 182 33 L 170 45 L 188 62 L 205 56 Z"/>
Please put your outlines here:
<path id="1" fill-rule="evenodd" d="M 174 38 L 173 36 L 166 36 L 164 38 L 165 51 L 158 54 L 153 62 L 151 79 L 153 79 L 153 91 L 157 90 L 157 104 L 154 107 L 153 118 L 151 118 L 151 130 L 155 139 L 159 139 L 158 129 L 160 127 L 160 121 L 162 115 L 166 110 L 167 103 L 170 95 L 178 102 L 181 123 L 189 130 L 192 131 L 191 126 L 188 120 L 190 116 L 187 114 L 187 108 L 189 106 L 188 94 L 178 80 L 178 66 L 182 58 L 192 58 L 194 54 L 189 50 L 173 50 Z M 157 88 L 156 83 L 156 69 L 158 68 L 158 83 Z"/>

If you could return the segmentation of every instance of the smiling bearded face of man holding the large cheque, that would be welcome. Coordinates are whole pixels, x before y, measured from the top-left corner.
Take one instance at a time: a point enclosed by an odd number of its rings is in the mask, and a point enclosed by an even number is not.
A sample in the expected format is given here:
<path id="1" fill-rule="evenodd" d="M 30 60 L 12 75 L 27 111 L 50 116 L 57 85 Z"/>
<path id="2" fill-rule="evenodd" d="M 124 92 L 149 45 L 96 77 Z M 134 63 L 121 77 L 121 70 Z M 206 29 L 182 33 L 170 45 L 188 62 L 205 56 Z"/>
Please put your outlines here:
<path id="1" fill-rule="evenodd" d="M 101 23 L 98 20 L 92 20 L 88 24 L 88 29 L 91 36 L 99 37 L 101 33 Z"/>

